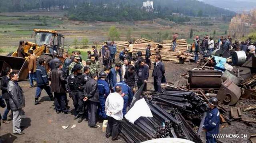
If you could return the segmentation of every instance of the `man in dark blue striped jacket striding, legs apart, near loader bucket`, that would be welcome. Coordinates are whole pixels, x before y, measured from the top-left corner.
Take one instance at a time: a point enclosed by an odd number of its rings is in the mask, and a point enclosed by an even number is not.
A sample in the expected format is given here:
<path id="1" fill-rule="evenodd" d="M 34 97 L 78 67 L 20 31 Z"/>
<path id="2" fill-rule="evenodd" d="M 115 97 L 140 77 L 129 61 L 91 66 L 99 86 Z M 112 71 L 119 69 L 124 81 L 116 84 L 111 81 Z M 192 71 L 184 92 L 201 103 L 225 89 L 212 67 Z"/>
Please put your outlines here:
<path id="1" fill-rule="evenodd" d="M 45 70 L 45 61 L 44 59 L 39 60 L 39 66 L 36 68 L 36 96 L 35 96 L 35 105 L 39 104 L 38 98 L 41 96 L 41 92 L 44 89 L 48 96 L 51 98 L 51 101 L 54 101 L 54 97 L 51 94 L 51 89 L 49 86 L 48 75 Z"/>

